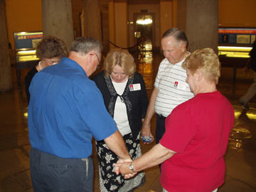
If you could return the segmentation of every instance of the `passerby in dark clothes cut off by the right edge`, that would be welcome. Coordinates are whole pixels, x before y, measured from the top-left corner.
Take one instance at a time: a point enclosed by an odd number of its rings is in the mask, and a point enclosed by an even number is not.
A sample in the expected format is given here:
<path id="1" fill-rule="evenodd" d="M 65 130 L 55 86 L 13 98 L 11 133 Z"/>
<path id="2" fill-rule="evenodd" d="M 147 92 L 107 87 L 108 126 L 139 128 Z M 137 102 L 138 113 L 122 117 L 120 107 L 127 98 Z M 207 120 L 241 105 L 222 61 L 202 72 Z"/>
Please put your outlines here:
<path id="1" fill-rule="evenodd" d="M 249 89 L 243 95 L 239 102 L 245 110 L 249 110 L 248 102 L 252 99 L 252 97 L 256 94 L 256 40 L 252 44 L 252 50 L 250 50 L 250 59 L 248 60 L 247 64 L 245 65 L 245 73 L 250 68 L 253 70 L 253 83 L 250 85 Z"/>

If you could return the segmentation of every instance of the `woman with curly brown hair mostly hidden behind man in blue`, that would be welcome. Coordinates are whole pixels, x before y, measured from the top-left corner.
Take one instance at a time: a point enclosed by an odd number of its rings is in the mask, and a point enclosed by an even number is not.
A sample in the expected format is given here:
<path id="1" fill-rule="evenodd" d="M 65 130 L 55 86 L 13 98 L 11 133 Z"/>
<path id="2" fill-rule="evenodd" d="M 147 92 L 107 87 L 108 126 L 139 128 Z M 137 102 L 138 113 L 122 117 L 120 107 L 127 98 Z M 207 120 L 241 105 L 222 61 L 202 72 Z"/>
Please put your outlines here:
<path id="1" fill-rule="evenodd" d="M 62 40 L 47 36 L 36 46 L 36 56 L 40 59 L 39 63 L 25 77 L 25 91 L 28 103 L 30 100 L 28 88 L 33 76 L 44 68 L 59 63 L 61 58 L 68 56 L 68 50 Z"/>

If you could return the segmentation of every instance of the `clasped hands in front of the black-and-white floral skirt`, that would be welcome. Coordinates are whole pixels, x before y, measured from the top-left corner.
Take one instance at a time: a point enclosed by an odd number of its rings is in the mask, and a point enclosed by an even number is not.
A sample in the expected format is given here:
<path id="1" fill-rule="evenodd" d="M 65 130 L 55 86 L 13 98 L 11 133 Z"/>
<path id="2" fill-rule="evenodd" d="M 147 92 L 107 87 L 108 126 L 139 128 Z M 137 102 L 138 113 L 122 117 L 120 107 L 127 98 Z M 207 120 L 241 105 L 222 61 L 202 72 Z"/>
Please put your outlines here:
<path id="1" fill-rule="evenodd" d="M 119 159 L 116 164 L 114 164 L 114 173 L 117 175 L 122 174 L 124 178 L 132 178 L 137 174 L 129 169 L 129 165 L 132 163 L 132 159 Z"/>

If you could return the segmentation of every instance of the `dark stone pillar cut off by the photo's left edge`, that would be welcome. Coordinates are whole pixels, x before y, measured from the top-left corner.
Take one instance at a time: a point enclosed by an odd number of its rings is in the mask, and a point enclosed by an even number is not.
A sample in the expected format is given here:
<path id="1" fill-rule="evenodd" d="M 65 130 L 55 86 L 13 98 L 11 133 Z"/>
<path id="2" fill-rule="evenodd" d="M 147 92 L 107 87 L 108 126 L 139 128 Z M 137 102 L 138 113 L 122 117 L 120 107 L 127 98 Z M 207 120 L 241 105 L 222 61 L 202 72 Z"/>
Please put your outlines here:
<path id="1" fill-rule="evenodd" d="M 4 0 L 0 0 L 0 21 L 0 92 L 5 92 L 12 89 L 12 83 Z"/>

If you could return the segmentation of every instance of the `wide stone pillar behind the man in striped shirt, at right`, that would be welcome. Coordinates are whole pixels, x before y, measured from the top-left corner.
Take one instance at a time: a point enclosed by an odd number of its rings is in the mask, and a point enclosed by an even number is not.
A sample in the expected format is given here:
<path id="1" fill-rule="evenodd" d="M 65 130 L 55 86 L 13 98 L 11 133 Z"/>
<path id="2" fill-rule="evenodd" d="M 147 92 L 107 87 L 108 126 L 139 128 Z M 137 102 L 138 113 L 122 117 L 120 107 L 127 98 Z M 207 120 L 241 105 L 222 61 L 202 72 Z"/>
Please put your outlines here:
<path id="1" fill-rule="evenodd" d="M 218 1 L 179 0 L 177 26 L 186 32 L 189 51 L 213 48 L 218 53 Z"/>

